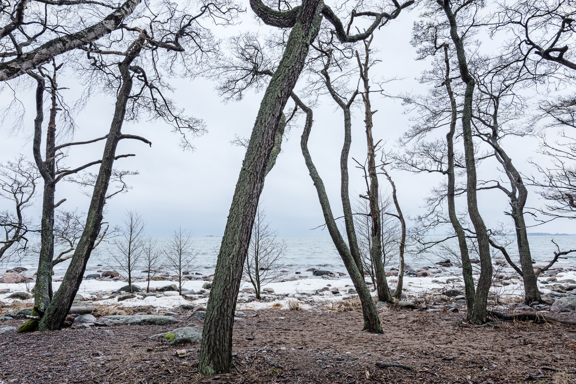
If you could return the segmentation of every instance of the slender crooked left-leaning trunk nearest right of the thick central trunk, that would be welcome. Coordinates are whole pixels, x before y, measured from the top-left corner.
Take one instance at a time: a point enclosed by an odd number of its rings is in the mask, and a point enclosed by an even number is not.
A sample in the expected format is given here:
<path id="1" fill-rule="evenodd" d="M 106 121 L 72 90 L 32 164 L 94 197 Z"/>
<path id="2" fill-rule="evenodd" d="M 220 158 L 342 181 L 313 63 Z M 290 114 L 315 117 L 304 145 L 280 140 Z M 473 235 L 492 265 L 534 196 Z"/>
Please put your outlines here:
<path id="1" fill-rule="evenodd" d="M 298 106 L 306 112 L 306 124 L 304 126 L 304 132 L 302 132 L 302 138 L 300 141 L 300 147 L 302 149 L 302 155 L 304 155 L 304 160 L 306 166 L 308 167 L 308 172 L 310 172 L 310 177 L 316 187 L 316 192 L 318 193 L 318 199 L 320 200 L 320 206 L 322 207 L 322 213 L 324 215 L 324 220 L 326 227 L 328 228 L 328 233 L 336 246 L 336 250 L 342 257 L 344 266 L 350 275 L 350 279 L 354 284 L 354 288 L 358 292 L 358 297 L 362 303 L 362 314 L 364 317 L 364 329 L 372 333 L 383 333 L 382 325 L 380 323 L 380 318 L 378 317 L 378 311 L 370 291 L 366 287 L 366 281 L 364 276 L 360 273 L 358 266 L 355 263 L 354 257 L 350 253 L 350 249 L 346 245 L 346 242 L 340 234 L 340 230 L 334 221 L 334 215 L 332 214 L 332 208 L 330 207 L 330 201 L 328 200 L 328 195 L 324 187 L 324 182 L 318 174 L 316 166 L 312 162 L 312 157 L 310 156 L 310 151 L 308 150 L 308 138 L 310 136 L 310 130 L 312 130 L 312 109 L 308 108 L 300 99 L 296 96 L 292 96 L 294 101 L 297 102 Z"/>

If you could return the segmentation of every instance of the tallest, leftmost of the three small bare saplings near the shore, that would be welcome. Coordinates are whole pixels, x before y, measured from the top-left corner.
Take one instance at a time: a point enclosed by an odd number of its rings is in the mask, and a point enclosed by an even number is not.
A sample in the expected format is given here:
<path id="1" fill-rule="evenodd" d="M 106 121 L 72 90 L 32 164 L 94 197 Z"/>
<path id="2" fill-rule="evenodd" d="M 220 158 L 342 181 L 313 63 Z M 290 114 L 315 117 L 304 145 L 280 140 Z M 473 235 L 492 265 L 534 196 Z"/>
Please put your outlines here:
<path id="1" fill-rule="evenodd" d="M 112 242 L 116 252 L 111 252 L 110 258 L 115 263 L 112 265 L 108 262 L 108 265 L 120 275 L 128 275 L 128 292 L 132 293 L 132 274 L 140 266 L 144 256 L 146 222 L 137 211 L 126 211 L 125 216 L 122 220 L 124 226 Z"/>

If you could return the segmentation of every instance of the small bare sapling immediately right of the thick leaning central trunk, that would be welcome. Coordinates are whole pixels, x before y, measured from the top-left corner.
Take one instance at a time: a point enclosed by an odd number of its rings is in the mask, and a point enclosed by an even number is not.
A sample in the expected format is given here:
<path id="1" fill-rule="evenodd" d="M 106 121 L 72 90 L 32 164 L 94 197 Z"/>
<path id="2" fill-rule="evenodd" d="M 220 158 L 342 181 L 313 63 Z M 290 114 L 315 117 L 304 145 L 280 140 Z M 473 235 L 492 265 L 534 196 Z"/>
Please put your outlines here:
<path id="1" fill-rule="evenodd" d="M 270 222 L 266 221 L 266 211 L 259 204 L 254 219 L 252 238 L 248 255 L 244 263 L 244 273 L 256 291 L 256 298 L 260 299 L 262 287 L 278 280 L 283 275 L 279 272 L 278 260 L 286 250 L 285 241 L 278 239 L 278 231 L 272 229 Z"/>

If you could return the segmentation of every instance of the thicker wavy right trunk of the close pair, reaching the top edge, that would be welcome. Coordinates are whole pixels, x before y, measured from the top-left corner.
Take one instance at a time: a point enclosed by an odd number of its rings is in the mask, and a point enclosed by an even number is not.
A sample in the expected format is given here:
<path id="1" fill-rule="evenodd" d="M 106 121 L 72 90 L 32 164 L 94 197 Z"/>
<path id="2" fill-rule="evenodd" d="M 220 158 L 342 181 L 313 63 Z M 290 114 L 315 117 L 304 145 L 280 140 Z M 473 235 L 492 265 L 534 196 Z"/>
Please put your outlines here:
<path id="1" fill-rule="evenodd" d="M 473 324 L 483 324 L 486 322 L 486 304 L 488 302 L 488 290 L 490 290 L 490 283 L 492 281 L 492 260 L 490 257 L 490 244 L 488 244 L 488 233 L 486 225 L 480 212 L 478 210 L 477 200 L 477 180 L 476 177 L 476 161 L 474 158 L 474 142 L 472 140 L 472 101 L 475 81 L 468 71 L 468 63 L 466 60 L 466 51 L 464 43 L 458 35 L 458 26 L 456 16 L 450 8 L 450 3 L 446 0 L 442 3 L 442 7 L 448 18 L 450 24 L 450 37 L 456 47 L 456 55 L 458 59 L 458 69 L 460 69 L 460 77 L 466 84 L 464 92 L 464 106 L 462 111 L 462 131 L 464 138 L 464 157 L 466 161 L 466 174 L 467 174 L 467 200 L 468 200 L 468 215 L 472 221 L 472 225 L 476 231 L 476 239 L 478 241 L 478 253 L 480 257 L 480 277 L 478 279 L 478 287 L 474 298 L 474 309 L 472 316 L 469 318 Z"/>

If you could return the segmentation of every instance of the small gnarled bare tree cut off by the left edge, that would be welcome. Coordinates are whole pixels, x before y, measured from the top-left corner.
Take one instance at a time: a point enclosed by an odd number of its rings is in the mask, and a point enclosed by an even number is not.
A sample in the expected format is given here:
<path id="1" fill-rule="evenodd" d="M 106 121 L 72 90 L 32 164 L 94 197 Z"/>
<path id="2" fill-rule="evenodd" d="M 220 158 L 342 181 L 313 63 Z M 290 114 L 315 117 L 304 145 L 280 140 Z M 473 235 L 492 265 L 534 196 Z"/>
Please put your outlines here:
<path id="1" fill-rule="evenodd" d="M 14 204 L 13 211 L 0 212 L 0 227 L 3 232 L 3 238 L 0 238 L 0 260 L 13 253 L 7 253 L 12 246 L 22 248 L 28 242 L 26 233 L 31 222 L 26 219 L 24 211 L 33 203 L 39 178 L 40 174 L 34 164 L 26 161 L 23 156 L 0 164 L 0 197 L 12 200 Z"/>

